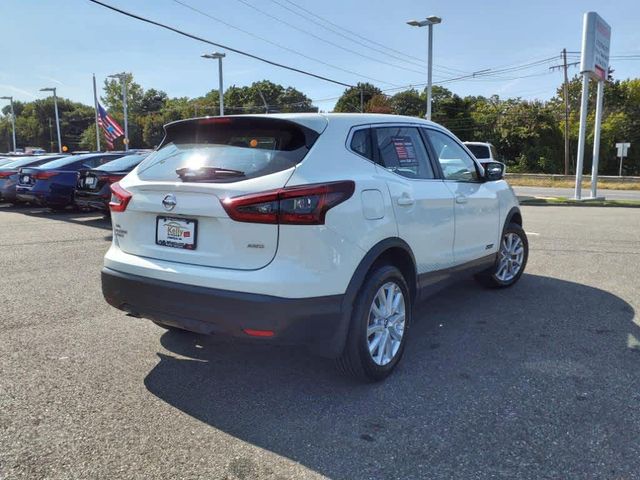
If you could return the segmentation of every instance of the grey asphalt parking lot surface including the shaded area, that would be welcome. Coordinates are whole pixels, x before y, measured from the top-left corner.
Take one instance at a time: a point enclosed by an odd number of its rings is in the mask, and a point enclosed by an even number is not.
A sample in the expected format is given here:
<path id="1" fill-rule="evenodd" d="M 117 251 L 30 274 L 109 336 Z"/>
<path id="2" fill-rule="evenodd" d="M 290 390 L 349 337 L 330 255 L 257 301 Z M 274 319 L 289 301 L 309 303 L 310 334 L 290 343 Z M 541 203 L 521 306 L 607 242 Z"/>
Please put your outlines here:
<path id="1" fill-rule="evenodd" d="M 523 217 L 521 282 L 430 299 L 360 385 L 126 317 L 108 222 L 0 207 L 0 478 L 640 478 L 640 210 Z"/>

